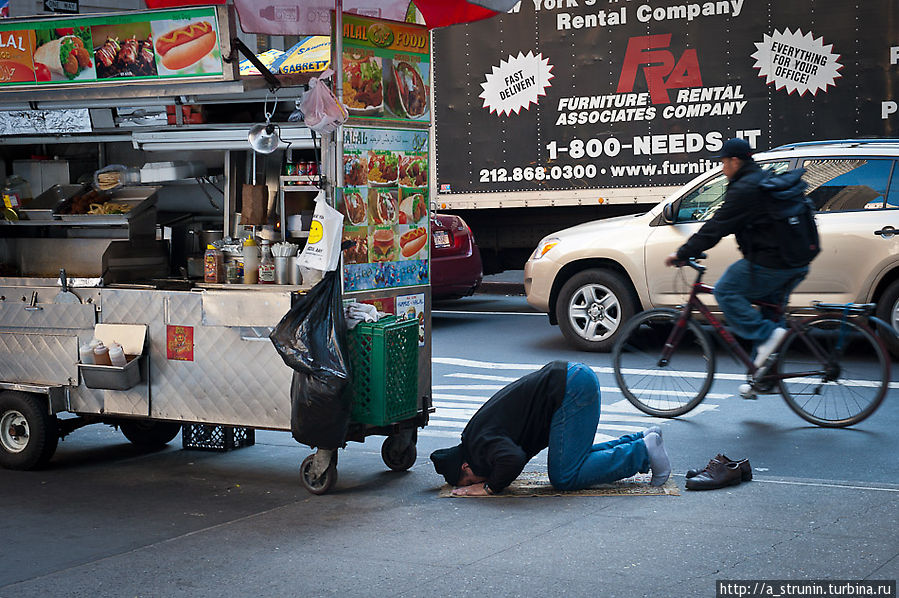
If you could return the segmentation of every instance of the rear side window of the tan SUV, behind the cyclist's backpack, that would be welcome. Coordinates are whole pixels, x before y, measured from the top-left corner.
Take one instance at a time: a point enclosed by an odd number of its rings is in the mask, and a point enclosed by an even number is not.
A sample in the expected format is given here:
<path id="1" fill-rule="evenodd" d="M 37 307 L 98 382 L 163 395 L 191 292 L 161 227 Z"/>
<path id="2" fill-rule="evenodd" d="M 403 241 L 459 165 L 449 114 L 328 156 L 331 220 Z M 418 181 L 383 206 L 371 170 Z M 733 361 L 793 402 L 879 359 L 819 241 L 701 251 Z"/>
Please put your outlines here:
<path id="1" fill-rule="evenodd" d="M 885 205 L 892 160 L 805 160 L 806 195 L 819 212 L 878 210 Z"/>

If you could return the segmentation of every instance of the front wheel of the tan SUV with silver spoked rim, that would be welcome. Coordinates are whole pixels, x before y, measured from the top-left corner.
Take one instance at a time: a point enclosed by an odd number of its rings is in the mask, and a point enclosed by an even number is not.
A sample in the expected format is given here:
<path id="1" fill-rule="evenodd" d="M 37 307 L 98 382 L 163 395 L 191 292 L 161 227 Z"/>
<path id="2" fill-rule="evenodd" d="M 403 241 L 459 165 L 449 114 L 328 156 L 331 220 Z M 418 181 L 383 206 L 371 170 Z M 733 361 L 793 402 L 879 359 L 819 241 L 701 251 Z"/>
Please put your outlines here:
<path id="1" fill-rule="evenodd" d="M 584 270 L 562 287 L 556 319 L 576 349 L 610 351 L 618 331 L 634 315 L 635 303 L 619 274 L 598 268 Z"/>

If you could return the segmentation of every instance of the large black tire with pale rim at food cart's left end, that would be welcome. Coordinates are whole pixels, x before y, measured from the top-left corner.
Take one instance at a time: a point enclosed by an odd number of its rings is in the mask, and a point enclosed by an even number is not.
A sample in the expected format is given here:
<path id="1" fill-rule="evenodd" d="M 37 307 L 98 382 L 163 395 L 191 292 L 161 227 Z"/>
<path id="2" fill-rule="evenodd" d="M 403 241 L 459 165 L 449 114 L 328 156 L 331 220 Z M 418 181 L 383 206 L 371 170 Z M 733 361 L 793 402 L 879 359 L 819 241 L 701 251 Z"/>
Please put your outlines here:
<path id="1" fill-rule="evenodd" d="M 0 393 L 0 465 L 36 469 L 59 443 L 59 427 L 44 400 L 24 392 Z"/>

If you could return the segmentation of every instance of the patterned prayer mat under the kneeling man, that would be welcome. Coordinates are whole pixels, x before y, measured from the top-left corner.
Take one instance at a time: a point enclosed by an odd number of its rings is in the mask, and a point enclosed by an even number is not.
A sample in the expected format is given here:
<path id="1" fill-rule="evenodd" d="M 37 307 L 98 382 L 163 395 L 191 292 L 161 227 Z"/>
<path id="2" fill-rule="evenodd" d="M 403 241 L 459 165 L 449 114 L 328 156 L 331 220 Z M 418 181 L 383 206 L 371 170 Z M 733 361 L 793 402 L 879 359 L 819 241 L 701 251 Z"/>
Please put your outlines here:
<path id="1" fill-rule="evenodd" d="M 499 494 L 491 496 L 454 496 L 453 487 L 444 484 L 438 498 L 510 498 L 519 496 L 680 496 L 673 477 L 662 486 L 650 486 L 651 475 L 638 473 L 611 484 L 600 484 L 583 490 L 556 490 L 546 472 L 525 471 Z"/>

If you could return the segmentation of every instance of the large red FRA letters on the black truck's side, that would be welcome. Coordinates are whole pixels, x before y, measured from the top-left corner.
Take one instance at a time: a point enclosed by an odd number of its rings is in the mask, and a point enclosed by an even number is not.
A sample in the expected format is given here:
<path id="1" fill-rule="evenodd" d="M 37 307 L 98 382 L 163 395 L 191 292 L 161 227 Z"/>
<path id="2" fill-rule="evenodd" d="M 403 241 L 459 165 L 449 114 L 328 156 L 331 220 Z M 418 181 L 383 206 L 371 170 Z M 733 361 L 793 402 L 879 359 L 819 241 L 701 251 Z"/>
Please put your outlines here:
<path id="1" fill-rule="evenodd" d="M 618 93 L 634 91 L 637 71 L 641 67 L 653 104 L 671 103 L 669 89 L 702 87 L 696 50 L 684 50 L 681 57 L 675 60 L 674 54 L 668 50 L 670 45 L 670 33 L 630 38 L 618 79 Z"/>

